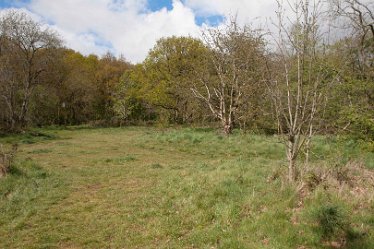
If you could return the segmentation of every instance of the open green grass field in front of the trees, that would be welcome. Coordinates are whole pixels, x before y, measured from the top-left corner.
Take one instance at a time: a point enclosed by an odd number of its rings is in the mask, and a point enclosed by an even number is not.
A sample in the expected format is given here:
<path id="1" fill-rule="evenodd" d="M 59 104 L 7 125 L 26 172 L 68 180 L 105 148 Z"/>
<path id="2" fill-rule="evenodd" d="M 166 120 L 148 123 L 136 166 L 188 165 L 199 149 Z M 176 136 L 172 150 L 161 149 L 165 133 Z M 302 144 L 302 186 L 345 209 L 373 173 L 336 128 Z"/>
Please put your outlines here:
<path id="1" fill-rule="evenodd" d="M 274 136 L 71 128 L 0 142 L 21 144 L 0 179 L 0 248 L 374 248 L 370 182 L 300 196 Z M 318 137 L 313 152 L 313 167 L 374 168 L 353 141 Z"/>

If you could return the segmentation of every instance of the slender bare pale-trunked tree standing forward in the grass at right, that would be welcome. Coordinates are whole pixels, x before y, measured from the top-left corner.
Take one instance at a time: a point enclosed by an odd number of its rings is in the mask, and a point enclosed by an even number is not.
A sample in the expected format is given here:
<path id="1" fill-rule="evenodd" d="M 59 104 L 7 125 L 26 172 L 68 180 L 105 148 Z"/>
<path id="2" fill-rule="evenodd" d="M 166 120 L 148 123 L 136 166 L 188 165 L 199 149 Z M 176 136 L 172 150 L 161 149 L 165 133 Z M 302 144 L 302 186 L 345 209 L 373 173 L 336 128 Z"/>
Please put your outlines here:
<path id="1" fill-rule="evenodd" d="M 279 132 L 284 138 L 288 159 L 288 179 L 297 177 L 296 159 L 308 145 L 324 89 L 334 80 L 324 67 L 319 31 L 321 1 L 287 2 L 293 17 L 285 17 L 285 5 L 278 1 L 277 51 L 268 63 L 266 81 L 273 101 Z"/>

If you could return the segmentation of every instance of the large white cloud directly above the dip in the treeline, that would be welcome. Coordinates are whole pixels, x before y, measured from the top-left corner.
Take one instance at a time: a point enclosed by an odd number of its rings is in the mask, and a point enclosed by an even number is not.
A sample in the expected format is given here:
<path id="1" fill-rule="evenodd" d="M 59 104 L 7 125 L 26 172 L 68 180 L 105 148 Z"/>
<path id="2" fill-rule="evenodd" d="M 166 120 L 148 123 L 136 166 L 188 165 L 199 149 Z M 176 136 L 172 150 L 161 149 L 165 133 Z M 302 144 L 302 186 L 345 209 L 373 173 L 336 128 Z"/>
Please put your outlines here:
<path id="1" fill-rule="evenodd" d="M 142 61 L 161 37 L 199 33 L 194 13 L 179 0 L 171 10 L 155 12 L 147 10 L 146 0 L 33 0 L 28 8 L 45 18 L 68 47 L 84 54 L 111 50 L 131 62 Z"/>

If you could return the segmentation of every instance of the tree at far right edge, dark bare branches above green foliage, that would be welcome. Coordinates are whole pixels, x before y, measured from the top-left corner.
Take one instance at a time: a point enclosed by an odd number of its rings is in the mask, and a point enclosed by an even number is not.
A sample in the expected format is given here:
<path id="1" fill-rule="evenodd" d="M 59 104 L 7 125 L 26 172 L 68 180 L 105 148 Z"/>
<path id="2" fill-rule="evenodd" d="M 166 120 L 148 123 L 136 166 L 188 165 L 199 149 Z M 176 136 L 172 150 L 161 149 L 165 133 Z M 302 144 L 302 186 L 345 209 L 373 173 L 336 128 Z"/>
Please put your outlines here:
<path id="1" fill-rule="evenodd" d="M 340 92 L 334 96 L 338 103 L 337 126 L 355 137 L 373 140 L 374 3 L 334 0 L 330 7 L 333 19 L 339 21 L 338 28 L 345 34 L 331 56 L 338 55 L 335 65 L 341 75 Z"/>

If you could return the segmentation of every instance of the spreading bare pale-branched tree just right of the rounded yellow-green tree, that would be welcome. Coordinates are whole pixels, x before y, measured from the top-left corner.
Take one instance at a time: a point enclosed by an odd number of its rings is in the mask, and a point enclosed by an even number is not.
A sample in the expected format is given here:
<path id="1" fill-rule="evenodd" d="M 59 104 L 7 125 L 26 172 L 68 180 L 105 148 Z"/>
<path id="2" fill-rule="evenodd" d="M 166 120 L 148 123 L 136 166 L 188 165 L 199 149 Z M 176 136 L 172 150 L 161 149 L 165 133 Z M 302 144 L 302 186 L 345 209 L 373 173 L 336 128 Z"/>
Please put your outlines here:
<path id="1" fill-rule="evenodd" d="M 210 54 L 195 70 L 197 81 L 191 90 L 220 120 L 228 135 L 239 118 L 236 115 L 243 107 L 243 96 L 253 93 L 251 88 L 260 82 L 265 42 L 259 31 L 239 27 L 236 21 L 223 29 L 207 30 L 203 38 Z"/>

